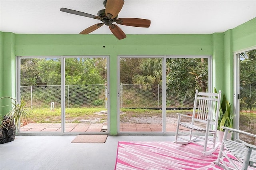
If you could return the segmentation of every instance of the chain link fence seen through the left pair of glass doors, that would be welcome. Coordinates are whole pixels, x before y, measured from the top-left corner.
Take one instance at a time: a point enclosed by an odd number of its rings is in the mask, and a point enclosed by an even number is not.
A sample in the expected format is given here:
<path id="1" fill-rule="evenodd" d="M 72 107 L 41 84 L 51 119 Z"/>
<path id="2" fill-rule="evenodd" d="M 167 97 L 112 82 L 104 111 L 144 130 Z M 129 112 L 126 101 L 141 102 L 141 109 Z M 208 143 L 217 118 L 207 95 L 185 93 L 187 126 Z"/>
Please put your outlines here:
<path id="1" fill-rule="evenodd" d="M 106 85 L 66 85 L 66 108 L 106 108 Z M 21 86 L 20 99 L 32 108 L 61 107 L 61 86 Z"/>

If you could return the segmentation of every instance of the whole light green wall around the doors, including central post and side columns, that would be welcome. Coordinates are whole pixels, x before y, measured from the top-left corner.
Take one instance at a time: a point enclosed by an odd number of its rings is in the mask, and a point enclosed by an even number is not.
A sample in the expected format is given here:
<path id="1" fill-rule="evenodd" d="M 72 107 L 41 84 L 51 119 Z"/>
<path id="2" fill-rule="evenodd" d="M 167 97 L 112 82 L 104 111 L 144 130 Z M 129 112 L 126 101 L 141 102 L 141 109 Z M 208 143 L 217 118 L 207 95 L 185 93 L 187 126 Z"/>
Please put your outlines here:
<path id="1" fill-rule="evenodd" d="M 256 46 L 256 18 L 224 33 L 198 35 L 37 35 L 0 33 L 0 96 L 15 96 L 15 56 L 109 55 L 110 134 L 117 134 L 118 55 L 212 55 L 213 85 L 234 92 L 233 52 Z M 103 48 L 103 45 L 106 47 Z M 2 71 L 3 70 L 3 71 Z"/>

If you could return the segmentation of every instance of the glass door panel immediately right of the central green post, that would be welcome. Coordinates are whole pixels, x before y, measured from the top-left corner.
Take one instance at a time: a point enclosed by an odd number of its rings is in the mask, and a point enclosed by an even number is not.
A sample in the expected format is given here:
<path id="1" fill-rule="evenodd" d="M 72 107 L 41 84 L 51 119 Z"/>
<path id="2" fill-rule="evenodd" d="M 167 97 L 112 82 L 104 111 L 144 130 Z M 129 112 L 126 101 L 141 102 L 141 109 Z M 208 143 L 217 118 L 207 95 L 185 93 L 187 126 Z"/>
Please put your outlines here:
<path id="1" fill-rule="evenodd" d="M 162 132 L 162 58 L 119 58 L 120 132 Z"/>

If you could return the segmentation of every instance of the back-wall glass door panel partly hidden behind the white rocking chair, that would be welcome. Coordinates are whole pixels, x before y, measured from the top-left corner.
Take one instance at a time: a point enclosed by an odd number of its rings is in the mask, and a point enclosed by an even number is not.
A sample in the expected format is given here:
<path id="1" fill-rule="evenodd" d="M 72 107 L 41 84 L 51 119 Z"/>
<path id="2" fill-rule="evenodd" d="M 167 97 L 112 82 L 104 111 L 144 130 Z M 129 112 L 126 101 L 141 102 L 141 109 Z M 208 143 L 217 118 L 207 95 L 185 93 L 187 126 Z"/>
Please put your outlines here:
<path id="1" fill-rule="evenodd" d="M 177 127 L 176 113 L 191 115 L 196 89 L 208 92 L 209 56 L 168 56 L 166 59 L 166 132 Z M 187 120 L 188 122 L 191 119 Z"/>

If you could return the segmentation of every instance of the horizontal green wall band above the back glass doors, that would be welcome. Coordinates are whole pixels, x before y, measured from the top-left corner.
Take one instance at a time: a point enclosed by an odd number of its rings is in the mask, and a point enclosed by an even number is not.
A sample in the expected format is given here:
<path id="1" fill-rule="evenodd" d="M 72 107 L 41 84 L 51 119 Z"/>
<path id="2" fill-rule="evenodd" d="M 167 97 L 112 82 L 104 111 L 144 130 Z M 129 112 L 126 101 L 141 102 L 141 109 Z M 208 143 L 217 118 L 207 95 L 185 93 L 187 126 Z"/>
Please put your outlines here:
<path id="1" fill-rule="evenodd" d="M 16 34 L 16 55 L 211 55 L 211 35 Z M 106 47 L 103 48 L 103 45 Z"/>

